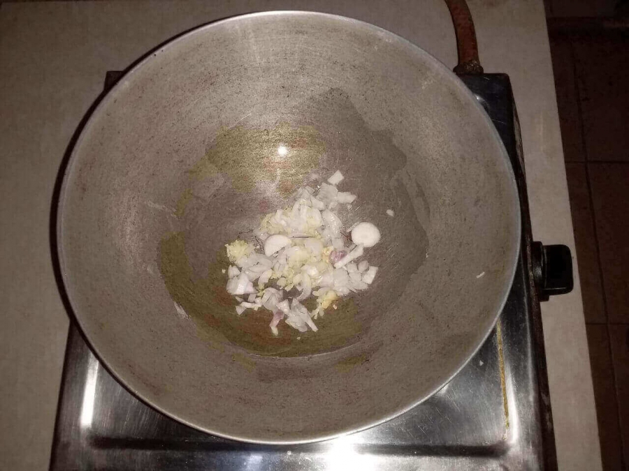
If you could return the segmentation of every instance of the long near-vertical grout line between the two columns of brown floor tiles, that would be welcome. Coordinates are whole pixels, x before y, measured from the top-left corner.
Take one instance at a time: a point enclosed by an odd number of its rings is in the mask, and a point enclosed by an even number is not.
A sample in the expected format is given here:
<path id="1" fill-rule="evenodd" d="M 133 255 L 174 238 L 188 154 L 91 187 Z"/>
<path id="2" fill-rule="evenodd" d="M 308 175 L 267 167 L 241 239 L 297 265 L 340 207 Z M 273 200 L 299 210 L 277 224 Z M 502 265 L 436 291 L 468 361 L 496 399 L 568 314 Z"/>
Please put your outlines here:
<path id="1" fill-rule="evenodd" d="M 618 395 L 618 381 L 616 380 L 616 368 L 614 366 L 614 350 L 612 350 L 612 334 L 609 329 L 609 311 L 608 311 L 608 302 L 607 302 L 607 292 L 605 291 L 605 278 L 603 277 L 602 272 L 602 263 L 600 260 L 600 244 L 598 239 L 598 231 L 596 230 L 596 214 L 594 208 L 594 198 L 592 193 L 592 186 L 590 184 L 590 169 L 589 169 L 589 159 L 588 159 L 588 149 L 586 145 L 586 135 L 585 128 L 583 123 L 583 111 L 581 107 L 581 94 L 579 91 L 579 78 L 577 75 L 577 61 L 574 57 L 574 43 L 572 43 L 572 39 L 569 42 L 570 45 L 570 59 L 572 59 L 572 73 L 574 74 L 574 91 L 577 95 L 577 111 L 579 112 L 579 126 L 581 127 L 581 147 L 584 153 L 584 164 L 585 164 L 585 172 L 586 172 L 586 186 L 588 189 L 588 198 L 590 200 L 590 207 L 592 211 L 592 225 L 594 230 L 594 242 L 596 245 L 596 257 L 598 258 L 598 274 L 600 276 L 600 283 L 602 287 L 602 300 L 603 300 L 603 308 L 605 309 L 605 326 L 607 331 L 607 350 L 609 352 L 609 360 L 612 362 L 610 365 L 612 368 L 612 382 L 614 384 L 614 396 L 616 396 L 616 422 L 618 424 L 618 430 L 620 432 L 620 441 L 621 441 L 621 462 L 624 461 L 625 456 L 625 440 L 623 440 L 623 428 L 621 426 L 620 419 L 620 401 Z M 600 431 L 598 431 L 598 440 L 600 442 Z"/>

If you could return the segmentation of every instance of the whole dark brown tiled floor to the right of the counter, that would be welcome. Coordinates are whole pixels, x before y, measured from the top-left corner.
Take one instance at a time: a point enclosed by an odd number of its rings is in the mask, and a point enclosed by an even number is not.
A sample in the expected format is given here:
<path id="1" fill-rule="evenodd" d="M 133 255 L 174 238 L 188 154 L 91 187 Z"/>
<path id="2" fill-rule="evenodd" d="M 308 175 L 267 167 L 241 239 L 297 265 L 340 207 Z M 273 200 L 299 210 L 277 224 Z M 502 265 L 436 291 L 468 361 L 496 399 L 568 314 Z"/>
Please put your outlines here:
<path id="1" fill-rule="evenodd" d="M 603 469 L 628 471 L 629 28 L 549 27 Z"/>

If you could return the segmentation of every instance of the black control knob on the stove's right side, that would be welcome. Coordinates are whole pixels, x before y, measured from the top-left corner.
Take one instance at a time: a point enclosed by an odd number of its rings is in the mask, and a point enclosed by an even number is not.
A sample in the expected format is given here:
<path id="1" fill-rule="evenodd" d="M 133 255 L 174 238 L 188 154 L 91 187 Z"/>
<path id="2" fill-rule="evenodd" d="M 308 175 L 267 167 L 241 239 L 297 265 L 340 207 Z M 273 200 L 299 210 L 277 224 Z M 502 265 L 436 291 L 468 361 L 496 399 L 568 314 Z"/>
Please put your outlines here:
<path id="1" fill-rule="evenodd" d="M 563 245 L 544 246 L 541 242 L 531 244 L 533 281 L 540 301 L 548 301 L 557 294 L 572 291 L 572 254 Z"/>

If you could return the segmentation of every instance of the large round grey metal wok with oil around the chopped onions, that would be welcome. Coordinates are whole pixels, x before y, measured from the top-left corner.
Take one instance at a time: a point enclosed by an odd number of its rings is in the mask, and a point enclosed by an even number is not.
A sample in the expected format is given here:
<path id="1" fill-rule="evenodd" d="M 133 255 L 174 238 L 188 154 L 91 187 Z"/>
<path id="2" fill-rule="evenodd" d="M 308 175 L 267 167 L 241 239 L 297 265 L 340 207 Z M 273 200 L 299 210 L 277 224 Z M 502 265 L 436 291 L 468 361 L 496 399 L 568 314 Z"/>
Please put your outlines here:
<path id="1" fill-rule="evenodd" d="M 276 338 L 268 311 L 236 315 L 224 244 L 335 170 L 358 196 L 347 223 L 382 232 L 378 275 L 319 331 Z M 507 154 L 463 83 L 393 33 L 306 12 L 209 24 L 129 70 L 82 129 L 57 219 L 66 294 L 111 373 L 185 424 L 264 443 L 438 391 L 493 328 L 519 238 Z"/>

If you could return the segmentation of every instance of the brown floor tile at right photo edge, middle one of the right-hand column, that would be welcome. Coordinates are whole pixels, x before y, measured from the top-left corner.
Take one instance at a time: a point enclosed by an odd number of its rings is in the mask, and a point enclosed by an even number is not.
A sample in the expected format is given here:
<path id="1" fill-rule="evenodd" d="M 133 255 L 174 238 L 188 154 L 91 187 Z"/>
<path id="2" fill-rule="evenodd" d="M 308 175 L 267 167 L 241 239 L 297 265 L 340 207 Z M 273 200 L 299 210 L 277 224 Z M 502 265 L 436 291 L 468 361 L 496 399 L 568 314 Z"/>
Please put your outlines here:
<path id="1" fill-rule="evenodd" d="M 588 164 L 609 322 L 629 322 L 629 165 Z"/>

